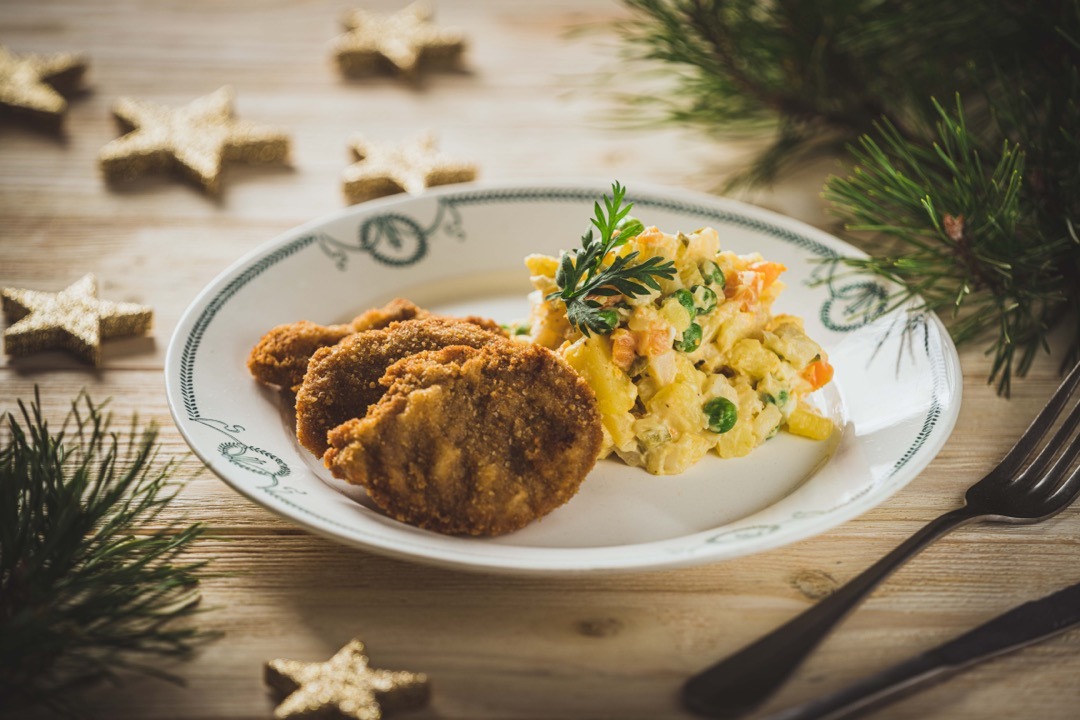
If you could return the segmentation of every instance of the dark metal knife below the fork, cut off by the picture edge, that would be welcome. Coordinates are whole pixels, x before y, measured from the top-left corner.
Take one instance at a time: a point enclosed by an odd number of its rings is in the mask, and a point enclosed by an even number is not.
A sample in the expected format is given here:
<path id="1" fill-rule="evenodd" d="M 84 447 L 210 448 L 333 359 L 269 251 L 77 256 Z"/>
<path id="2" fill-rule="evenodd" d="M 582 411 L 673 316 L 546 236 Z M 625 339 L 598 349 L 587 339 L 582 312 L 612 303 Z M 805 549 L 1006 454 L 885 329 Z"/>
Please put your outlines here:
<path id="1" fill-rule="evenodd" d="M 1080 623 L 1080 583 L 1025 602 L 970 633 L 848 688 L 762 720 L 851 718 L 972 665 L 1053 637 Z"/>

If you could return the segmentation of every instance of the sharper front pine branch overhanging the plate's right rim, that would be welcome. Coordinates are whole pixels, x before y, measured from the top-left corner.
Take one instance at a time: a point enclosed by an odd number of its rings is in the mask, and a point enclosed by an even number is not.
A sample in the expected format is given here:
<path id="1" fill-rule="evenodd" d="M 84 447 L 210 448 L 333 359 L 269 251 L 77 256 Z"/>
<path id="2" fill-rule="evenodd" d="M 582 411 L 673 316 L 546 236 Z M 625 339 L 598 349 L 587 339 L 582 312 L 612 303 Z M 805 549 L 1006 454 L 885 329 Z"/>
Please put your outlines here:
<path id="1" fill-rule="evenodd" d="M 892 304 L 917 298 L 957 342 L 993 336 L 990 379 L 1008 394 L 1013 375 L 1048 350 L 1075 293 L 1068 268 L 1080 246 L 1047 233 L 1031 212 L 1016 145 L 984 147 L 959 98 L 954 111 L 936 109 L 935 142 L 913 144 L 883 122 L 852 149 L 855 168 L 831 178 L 825 198 L 850 231 L 894 241 L 891 253 L 842 262 L 899 283 Z"/>

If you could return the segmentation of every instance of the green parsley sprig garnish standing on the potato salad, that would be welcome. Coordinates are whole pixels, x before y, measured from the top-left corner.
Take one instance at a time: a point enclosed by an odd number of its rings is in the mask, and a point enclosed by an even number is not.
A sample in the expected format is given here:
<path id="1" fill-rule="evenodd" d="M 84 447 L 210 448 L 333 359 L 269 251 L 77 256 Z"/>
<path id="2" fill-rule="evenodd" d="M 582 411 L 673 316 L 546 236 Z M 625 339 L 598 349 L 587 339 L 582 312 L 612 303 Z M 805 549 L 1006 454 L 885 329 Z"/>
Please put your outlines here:
<path id="1" fill-rule="evenodd" d="M 660 289 L 658 277 L 671 280 L 675 276 L 675 263 L 661 257 L 635 263 L 637 250 L 617 256 L 610 264 L 604 264 L 612 249 L 625 245 L 645 230 L 642 221 L 630 215 L 634 204 L 623 205 L 625 195 L 626 189 L 616 181 L 611 186 L 611 196 L 604 195 L 604 206 L 594 203 L 592 223 L 599 231 L 599 237 L 590 228 L 581 236 L 581 249 L 563 253 L 555 272 L 559 289 L 548 295 L 549 300 L 559 298 L 566 303 L 567 320 L 585 337 L 593 332 L 606 335 L 619 322 L 613 310 L 604 309 L 603 298 L 646 295 L 650 289 Z"/>

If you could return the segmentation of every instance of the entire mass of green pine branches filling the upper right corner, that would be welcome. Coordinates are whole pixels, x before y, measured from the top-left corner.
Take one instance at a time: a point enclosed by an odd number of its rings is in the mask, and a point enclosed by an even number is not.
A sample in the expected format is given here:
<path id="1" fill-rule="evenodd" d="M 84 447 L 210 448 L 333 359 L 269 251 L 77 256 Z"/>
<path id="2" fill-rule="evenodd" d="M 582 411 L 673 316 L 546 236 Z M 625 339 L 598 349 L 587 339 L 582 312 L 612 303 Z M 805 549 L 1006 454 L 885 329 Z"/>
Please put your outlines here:
<path id="1" fill-rule="evenodd" d="M 1080 318 L 1080 0 L 623 2 L 624 69 L 670 85 L 635 111 L 721 136 L 772 127 L 734 184 L 850 147 L 825 195 L 856 235 L 890 241 L 851 264 L 987 342 L 1001 392 Z M 1069 340 L 1064 364 L 1080 320 Z"/>

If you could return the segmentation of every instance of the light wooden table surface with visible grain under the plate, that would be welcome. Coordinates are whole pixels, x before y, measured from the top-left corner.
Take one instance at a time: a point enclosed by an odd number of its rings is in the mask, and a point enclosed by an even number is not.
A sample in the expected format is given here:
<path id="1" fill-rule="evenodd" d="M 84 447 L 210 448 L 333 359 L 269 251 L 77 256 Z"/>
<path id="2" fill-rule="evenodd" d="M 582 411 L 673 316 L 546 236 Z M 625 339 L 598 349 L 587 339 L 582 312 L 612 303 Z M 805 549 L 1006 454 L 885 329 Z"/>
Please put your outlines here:
<path id="1" fill-rule="evenodd" d="M 367 2 L 391 11 L 396 2 Z M 343 206 L 345 139 L 431 130 L 488 181 L 619 178 L 711 191 L 744 150 L 676 130 L 612 127 L 602 90 L 619 68 L 610 38 L 580 35 L 623 11 L 610 0 L 445 0 L 438 21 L 471 40 L 468 72 L 414 87 L 346 81 L 328 43 L 348 0 L 37 0 L 0 3 L 14 51 L 80 51 L 87 92 L 62 138 L 0 128 L 0 286 L 59 290 L 94 272 L 102 295 L 150 304 L 150 339 L 106 344 L 92 369 L 60 353 L 0 367 L 0 410 L 41 385 L 52 412 L 81 388 L 163 426 L 167 339 L 195 294 L 258 244 Z M 232 85 L 241 118 L 293 137 L 288 168 L 230 166 L 220 200 L 170 177 L 110 189 L 96 166 L 116 137 L 116 99 L 181 105 Z M 752 202 L 827 227 L 818 198 L 831 166 L 793 173 Z M 775 627 L 940 513 L 993 466 L 1057 382 L 1041 359 L 1012 399 L 985 384 L 978 348 L 961 351 L 963 406 L 948 444 L 918 478 L 864 516 L 754 557 L 672 571 L 516 579 L 433 569 L 313 536 L 202 472 L 174 504 L 211 525 L 205 627 L 226 636 L 171 669 L 173 687 L 135 677 L 82 701 L 99 717 L 267 718 L 272 657 L 324 660 L 363 638 L 373 663 L 422 670 L 431 705 L 416 718 L 685 717 L 676 691 L 694 670 Z M 184 471 L 193 475 L 192 457 Z M 767 709 L 838 688 L 1013 606 L 1080 581 L 1080 514 L 1032 527 L 975 526 L 931 547 L 881 587 Z M 985 664 L 881 710 L 880 718 L 1074 718 L 1080 633 Z M 3 714 L 0 708 L 0 715 Z"/>

